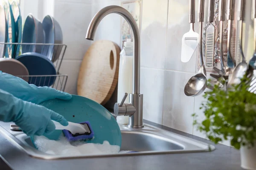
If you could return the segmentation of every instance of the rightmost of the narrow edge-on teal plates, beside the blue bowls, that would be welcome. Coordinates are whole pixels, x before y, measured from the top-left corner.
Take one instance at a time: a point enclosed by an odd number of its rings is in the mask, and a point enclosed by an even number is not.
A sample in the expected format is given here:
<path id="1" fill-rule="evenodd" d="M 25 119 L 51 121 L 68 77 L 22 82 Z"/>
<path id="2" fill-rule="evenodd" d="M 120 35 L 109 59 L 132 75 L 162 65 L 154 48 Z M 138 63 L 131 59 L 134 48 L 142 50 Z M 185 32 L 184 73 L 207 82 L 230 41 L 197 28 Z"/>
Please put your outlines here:
<path id="1" fill-rule="evenodd" d="M 17 1 L 12 2 L 12 13 L 15 20 L 15 36 L 16 42 L 20 43 L 22 39 L 22 20 L 20 15 L 20 5 Z M 20 44 L 16 45 L 14 58 L 17 58 L 20 54 Z"/>

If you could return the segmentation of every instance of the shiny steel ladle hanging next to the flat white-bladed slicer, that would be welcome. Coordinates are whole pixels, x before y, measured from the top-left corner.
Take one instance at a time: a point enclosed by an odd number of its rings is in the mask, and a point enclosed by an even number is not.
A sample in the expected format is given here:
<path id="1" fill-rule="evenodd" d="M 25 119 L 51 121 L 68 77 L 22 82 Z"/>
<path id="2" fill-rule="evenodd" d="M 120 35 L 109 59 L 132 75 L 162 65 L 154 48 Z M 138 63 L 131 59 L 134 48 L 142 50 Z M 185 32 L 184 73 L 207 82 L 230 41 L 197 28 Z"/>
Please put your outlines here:
<path id="1" fill-rule="evenodd" d="M 192 76 L 184 88 L 184 93 L 186 96 L 198 96 L 206 88 L 207 78 L 206 78 L 206 69 L 204 66 L 203 60 L 203 51 L 202 51 L 202 27 L 204 22 L 204 0 L 199 0 L 198 2 L 198 26 L 199 26 L 199 55 L 200 55 L 200 69 L 198 73 Z"/>

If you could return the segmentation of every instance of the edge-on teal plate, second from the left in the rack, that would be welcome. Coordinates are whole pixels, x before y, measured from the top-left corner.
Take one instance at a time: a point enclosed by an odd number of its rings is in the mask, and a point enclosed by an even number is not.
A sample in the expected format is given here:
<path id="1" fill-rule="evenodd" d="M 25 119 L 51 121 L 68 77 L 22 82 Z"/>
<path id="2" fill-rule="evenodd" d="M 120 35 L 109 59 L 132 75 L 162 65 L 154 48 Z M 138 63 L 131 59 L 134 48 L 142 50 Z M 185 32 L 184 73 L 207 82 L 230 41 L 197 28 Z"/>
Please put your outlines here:
<path id="1" fill-rule="evenodd" d="M 7 26 L 8 26 L 8 34 L 7 34 L 7 42 L 12 43 L 12 42 L 16 42 L 16 32 L 15 32 L 15 20 L 12 14 L 12 7 L 9 4 L 8 0 L 3 0 L 3 7 L 5 10 L 5 14 L 6 14 L 6 22 L 7 22 Z M 6 45 L 6 52 L 5 52 L 5 57 L 6 58 L 14 58 L 15 55 L 15 45 Z"/>

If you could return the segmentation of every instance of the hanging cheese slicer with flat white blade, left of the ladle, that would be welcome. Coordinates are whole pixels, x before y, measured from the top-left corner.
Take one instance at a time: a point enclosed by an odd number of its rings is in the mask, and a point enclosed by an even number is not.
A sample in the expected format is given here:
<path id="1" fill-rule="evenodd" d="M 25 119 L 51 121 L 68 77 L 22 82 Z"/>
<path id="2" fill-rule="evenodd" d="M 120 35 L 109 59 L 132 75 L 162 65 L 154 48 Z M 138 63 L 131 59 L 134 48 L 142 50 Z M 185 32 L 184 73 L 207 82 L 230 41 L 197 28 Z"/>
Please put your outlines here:
<path id="1" fill-rule="evenodd" d="M 199 43 L 199 34 L 194 31 L 195 23 L 195 0 L 189 0 L 189 23 L 190 30 L 182 37 L 181 61 L 189 62 Z"/>

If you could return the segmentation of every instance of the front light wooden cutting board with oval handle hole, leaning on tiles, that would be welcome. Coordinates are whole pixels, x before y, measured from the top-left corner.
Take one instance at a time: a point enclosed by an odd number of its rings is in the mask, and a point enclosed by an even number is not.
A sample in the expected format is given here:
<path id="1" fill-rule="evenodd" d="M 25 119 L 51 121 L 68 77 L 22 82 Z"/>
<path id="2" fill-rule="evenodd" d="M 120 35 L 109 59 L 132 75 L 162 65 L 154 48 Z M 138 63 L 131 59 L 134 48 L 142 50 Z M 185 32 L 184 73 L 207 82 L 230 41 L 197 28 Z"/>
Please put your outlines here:
<path id="1" fill-rule="evenodd" d="M 105 105 L 118 82 L 120 48 L 114 42 L 93 42 L 80 66 L 77 94 Z"/>

